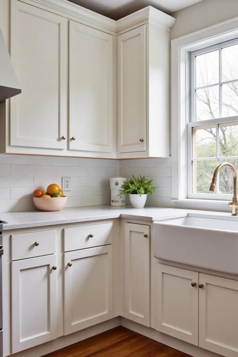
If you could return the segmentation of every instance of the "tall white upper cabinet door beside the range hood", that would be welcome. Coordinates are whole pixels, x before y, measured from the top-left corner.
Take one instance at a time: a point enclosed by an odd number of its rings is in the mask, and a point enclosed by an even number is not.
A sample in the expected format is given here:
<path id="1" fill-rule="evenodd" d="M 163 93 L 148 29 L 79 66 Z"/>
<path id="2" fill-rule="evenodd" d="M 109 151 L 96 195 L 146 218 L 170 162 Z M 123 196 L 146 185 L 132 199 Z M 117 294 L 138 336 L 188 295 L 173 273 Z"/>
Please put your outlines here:
<path id="1" fill-rule="evenodd" d="M 67 19 L 11 0 L 11 59 L 22 93 L 11 99 L 10 145 L 66 149 Z"/>

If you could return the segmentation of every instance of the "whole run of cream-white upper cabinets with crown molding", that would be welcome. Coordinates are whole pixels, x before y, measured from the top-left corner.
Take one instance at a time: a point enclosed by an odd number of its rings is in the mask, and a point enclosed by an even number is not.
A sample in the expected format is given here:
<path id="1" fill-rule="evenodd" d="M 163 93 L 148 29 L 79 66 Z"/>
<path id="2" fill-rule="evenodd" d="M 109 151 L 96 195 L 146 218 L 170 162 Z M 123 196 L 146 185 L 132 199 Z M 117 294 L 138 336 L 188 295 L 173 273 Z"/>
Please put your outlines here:
<path id="1" fill-rule="evenodd" d="M 114 21 L 64 0 L 8 3 L 1 28 L 22 93 L 0 104 L 1 153 L 168 156 L 173 17 L 151 6 Z"/>

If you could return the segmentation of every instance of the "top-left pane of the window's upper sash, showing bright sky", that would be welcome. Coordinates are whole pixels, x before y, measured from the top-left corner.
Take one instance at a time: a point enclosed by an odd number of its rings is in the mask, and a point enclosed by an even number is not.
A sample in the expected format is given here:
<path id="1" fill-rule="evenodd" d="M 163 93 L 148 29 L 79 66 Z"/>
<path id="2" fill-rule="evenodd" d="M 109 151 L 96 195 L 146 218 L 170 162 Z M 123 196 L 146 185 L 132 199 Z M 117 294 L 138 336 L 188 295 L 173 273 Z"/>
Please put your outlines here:
<path id="1" fill-rule="evenodd" d="M 196 56 L 196 87 L 219 83 L 219 50 Z"/>

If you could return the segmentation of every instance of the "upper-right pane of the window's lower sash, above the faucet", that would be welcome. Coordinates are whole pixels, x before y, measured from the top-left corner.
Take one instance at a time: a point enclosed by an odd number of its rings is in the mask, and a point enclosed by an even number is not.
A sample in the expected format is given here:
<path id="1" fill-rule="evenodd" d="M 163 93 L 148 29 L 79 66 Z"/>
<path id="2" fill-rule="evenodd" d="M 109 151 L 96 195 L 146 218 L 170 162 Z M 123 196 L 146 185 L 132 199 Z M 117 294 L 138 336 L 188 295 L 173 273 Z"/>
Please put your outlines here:
<path id="1" fill-rule="evenodd" d="M 238 123 L 219 125 L 219 156 L 238 156 Z"/>

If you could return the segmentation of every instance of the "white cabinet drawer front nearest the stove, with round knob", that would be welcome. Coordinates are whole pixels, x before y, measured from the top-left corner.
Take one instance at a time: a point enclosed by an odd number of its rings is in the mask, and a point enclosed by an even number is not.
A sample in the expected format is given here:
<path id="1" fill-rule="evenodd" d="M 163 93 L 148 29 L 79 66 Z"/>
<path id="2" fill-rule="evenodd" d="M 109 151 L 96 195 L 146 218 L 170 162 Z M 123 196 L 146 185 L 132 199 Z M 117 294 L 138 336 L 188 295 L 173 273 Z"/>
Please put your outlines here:
<path id="1" fill-rule="evenodd" d="M 13 234 L 11 236 L 11 259 L 18 260 L 54 254 L 55 244 L 55 230 Z"/>

